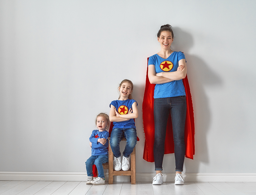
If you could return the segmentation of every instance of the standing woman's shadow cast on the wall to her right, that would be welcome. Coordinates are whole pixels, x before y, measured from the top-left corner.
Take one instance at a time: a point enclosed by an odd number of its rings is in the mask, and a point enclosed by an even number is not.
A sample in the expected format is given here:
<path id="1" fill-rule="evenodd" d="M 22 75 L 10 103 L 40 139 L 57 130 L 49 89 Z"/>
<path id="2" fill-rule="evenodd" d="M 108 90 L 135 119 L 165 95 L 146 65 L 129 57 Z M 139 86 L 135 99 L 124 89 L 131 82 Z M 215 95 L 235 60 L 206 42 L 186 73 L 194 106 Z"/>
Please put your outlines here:
<path id="1" fill-rule="evenodd" d="M 174 51 L 184 52 L 187 60 L 188 80 L 193 100 L 195 116 L 195 156 L 194 160 L 186 163 L 186 172 L 198 172 L 199 164 L 209 163 L 206 135 L 211 122 L 211 111 L 206 95 L 205 86 L 221 86 L 221 78 L 200 59 L 200 56 L 189 55 L 189 50 L 193 46 L 193 36 L 180 28 L 173 28 L 174 41 L 172 48 Z"/>

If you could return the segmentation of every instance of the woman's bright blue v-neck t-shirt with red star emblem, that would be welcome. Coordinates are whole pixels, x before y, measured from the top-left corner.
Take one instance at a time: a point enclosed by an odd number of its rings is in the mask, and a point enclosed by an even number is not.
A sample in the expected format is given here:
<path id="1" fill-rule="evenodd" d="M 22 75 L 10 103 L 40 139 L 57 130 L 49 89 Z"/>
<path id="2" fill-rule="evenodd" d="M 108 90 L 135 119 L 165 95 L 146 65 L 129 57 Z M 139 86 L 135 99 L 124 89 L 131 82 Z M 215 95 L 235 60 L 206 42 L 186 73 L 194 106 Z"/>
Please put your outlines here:
<path id="1" fill-rule="evenodd" d="M 150 56 L 148 65 L 155 66 L 156 73 L 177 71 L 179 60 L 186 59 L 181 51 L 174 51 L 167 59 L 161 58 L 157 54 Z M 181 80 L 171 81 L 163 84 L 156 84 L 154 98 L 168 98 L 186 95 L 185 88 Z"/>

